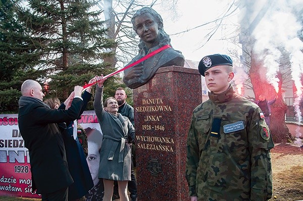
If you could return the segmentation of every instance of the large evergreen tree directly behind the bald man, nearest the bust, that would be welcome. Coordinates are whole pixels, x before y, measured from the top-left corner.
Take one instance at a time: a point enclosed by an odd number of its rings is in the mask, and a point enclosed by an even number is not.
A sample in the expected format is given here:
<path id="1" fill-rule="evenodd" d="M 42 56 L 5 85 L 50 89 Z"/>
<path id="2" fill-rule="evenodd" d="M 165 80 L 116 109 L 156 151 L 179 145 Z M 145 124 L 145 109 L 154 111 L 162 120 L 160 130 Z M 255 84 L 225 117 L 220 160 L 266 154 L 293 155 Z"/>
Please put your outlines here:
<path id="1" fill-rule="evenodd" d="M 27 22 L 37 45 L 36 68 L 42 72 L 40 81 L 48 84 L 47 95 L 63 101 L 75 85 L 114 70 L 106 68 L 109 64 L 103 58 L 113 54 L 106 51 L 115 42 L 106 38 L 100 12 L 90 11 L 93 6 L 85 0 L 28 1 L 22 21 Z M 114 81 L 111 78 L 106 84 Z"/>

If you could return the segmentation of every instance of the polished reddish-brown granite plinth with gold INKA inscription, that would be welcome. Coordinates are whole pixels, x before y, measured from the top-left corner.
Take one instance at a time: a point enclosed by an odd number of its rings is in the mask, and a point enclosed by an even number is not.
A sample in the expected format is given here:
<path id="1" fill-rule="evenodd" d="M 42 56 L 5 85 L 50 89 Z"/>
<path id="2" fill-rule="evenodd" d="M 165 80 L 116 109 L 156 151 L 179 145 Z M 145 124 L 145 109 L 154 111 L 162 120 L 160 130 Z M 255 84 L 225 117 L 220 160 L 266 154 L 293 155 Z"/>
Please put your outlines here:
<path id="1" fill-rule="evenodd" d="M 198 70 L 162 67 L 133 89 L 138 201 L 185 201 L 186 136 L 202 103 Z"/>

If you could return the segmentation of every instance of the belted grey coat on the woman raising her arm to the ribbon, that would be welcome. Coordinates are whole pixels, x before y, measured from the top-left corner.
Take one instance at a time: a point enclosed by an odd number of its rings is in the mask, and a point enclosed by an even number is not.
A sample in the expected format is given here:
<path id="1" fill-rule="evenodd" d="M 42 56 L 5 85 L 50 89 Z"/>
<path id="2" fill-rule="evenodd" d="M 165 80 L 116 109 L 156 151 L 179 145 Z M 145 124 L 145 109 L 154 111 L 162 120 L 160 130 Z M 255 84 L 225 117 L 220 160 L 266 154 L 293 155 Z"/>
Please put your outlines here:
<path id="1" fill-rule="evenodd" d="M 104 110 L 103 87 L 96 86 L 93 107 L 103 133 L 98 177 L 116 181 L 130 181 L 131 149 L 129 140 L 135 129 L 127 117 L 118 117 Z"/>

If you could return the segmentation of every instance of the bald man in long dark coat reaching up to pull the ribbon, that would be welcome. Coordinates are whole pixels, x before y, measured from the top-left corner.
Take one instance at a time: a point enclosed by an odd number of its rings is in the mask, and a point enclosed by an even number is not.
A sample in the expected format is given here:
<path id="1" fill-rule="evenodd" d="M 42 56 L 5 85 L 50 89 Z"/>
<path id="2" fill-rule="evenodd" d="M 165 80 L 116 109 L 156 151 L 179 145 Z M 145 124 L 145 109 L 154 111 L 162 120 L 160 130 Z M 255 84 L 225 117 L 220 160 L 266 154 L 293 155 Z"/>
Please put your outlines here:
<path id="1" fill-rule="evenodd" d="M 18 125 L 25 146 L 29 150 L 32 189 L 42 195 L 42 200 L 68 200 L 68 186 L 73 178 L 68 170 L 64 141 L 57 123 L 73 121 L 83 106 L 83 87 L 75 86 L 74 97 L 65 102 L 68 110 L 50 109 L 42 100 L 41 85 L 26 80 L 21 86 Z"/>

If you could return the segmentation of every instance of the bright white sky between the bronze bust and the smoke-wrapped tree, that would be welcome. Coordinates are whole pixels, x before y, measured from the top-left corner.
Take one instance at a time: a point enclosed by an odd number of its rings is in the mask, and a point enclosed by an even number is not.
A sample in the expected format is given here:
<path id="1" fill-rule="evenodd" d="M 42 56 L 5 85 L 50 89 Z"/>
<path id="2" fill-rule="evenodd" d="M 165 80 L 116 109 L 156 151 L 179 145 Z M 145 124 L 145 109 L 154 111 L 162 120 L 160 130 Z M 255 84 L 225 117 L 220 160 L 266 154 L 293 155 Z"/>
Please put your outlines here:
<path id="1" fill-rule="evenodd" d="M 228 54 L 228 48 L 236 48 L 222 38 L 231 36 L 230 33 L 238 29 L 236 14 L 239 11 L 228 17 L 224 21 L 224 28 L 220 27 L 203 47 L 201 46 L 206 42 L 205 36 L 210 33 L 215 23 L 193 29 L 222 17 L 232 2 L 230 0 L 178 0 L 176 12 L 167 11 L 165 5 L 160 5 L 159 8 L 156 6 L 154 9 L 163 18 L 164 30 L 170 35 L 172 46 L 181 51 L 185 59 L 200 61 L 206 55 Z M 235 33 L 232 36 L 235 36 Z"/>

